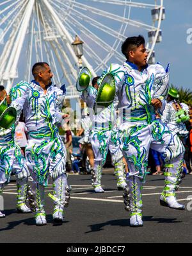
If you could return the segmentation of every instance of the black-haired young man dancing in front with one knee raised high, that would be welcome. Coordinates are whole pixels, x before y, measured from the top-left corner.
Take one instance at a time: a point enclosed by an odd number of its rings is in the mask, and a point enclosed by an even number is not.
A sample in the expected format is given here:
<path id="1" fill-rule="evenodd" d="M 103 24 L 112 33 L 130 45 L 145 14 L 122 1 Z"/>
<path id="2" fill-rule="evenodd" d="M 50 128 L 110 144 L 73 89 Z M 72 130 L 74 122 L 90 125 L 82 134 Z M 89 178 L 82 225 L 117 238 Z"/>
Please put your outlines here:
<path id="1" fill-rule="evenodd" d="M 155 118 L 156 111 L 162 114 L 164 109 L 169 69 L 164 70 L 159 64 L 148 67 L 142 36 L 127 38 L 122 44 L 122 53 L 127 61 L 123 65 L 111 64 L 108 72 L 115 78 L 121 146 L 129 167 L 128 189 L 124 190 L 125 209 L 131 211 L 131 226 L 143 226 L 141 189 L 147 173 L 149 148 L 163 153 L 165 159 L 161 205 L 184 210 L 184 205 L 175 198 L 182 174 L 184 146 L 176 133 Z"/>

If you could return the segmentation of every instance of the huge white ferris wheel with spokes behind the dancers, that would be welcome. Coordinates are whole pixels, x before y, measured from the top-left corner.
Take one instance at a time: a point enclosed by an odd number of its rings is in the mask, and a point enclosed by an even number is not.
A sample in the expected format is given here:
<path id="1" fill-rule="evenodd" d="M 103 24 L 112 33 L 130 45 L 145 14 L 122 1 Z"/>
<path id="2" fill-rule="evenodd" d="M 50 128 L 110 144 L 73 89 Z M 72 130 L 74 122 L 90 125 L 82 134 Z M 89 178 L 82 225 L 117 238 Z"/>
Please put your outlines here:
<path id="1" fill-rule="evenodd" d="M 0 83 L 10 90 L 17 81 L 31 80 L 35 62 L 48 62 L 53 83 L 65 83 L 68 98 L 79 97 L 74 87 L 78 64 L 93 76 L 111 62 L 121 64 L 120 46 L 129 36 L 145 36 L 153 63 L 163 19 L 163 0 L 0 1 Z M 82 56 L 73 49 L 76 36 Z"/>

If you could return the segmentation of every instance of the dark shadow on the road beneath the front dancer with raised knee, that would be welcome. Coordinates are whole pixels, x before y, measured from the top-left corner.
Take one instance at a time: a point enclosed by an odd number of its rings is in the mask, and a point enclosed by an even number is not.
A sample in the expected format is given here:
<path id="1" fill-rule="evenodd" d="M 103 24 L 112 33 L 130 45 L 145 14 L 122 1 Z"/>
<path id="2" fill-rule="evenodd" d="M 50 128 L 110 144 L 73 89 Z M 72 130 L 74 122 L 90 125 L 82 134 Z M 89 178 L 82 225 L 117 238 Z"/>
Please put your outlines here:
<path id="1" fill-rule="evenodd" d="M 180 223 L 182 221 L 177 221 L 176 218 L 153 218 L 153 216 L 143 216 L 143 221 L 155 221 L 157 223 Z M 129 219 L 115 219 L 111 221 L 107 221 L 105 223 L 99 223 L 99 224 L 93 224 L 90 225 L 91 230 L 88 232 L 85 232 L 85 234 L 88 234 L 90 232 L 98 232 L 101 230 L 104 230 L 104 226 L 130 226 Z"/>

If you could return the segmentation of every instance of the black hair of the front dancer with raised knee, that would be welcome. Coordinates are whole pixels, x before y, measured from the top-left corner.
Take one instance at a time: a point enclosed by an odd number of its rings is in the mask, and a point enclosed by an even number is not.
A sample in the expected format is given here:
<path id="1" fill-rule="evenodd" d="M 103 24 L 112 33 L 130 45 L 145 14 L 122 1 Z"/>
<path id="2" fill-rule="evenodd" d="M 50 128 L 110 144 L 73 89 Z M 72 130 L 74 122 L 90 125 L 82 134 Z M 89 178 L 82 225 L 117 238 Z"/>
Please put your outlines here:
<path id="1" fill-rule="evenodd" d="M 129 51 L 141 46 L 141 44 L 145 46 L 145 38 L 142 35 L 138 35 L 138 37 L 127 37 L 127 39 L 125 39 L 122 44 L 122 53 L 127 60 L 129 60 Z"/>

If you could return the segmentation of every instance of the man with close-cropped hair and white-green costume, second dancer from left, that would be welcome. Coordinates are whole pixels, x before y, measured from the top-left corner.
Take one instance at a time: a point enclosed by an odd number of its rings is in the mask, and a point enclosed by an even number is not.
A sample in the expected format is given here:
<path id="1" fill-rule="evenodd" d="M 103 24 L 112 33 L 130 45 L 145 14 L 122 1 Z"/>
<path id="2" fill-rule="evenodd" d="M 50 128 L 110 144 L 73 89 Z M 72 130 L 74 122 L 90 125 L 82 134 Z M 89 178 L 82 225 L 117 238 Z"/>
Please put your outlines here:
<path id="1" fill-rule="evenodd" d="M 46 225 L 44 189 L 48 175 L 53 180 L 54 200 L 52 218 L 63 222 L 64 205 L 69 199 L 67 175 L 65 173 L 66 149 L 58 134 L 58 123 L 68 115 L 61 113 L 63 92 L 52 86 L 53 76 L 49 64 L 38 62 L 33 65 L 34 80 L 21 81 L 11 90 L 12 106 L 18 114 L 23 109 L 28 129 L 26 163 L 36 185 L 36 225 Z"/>

